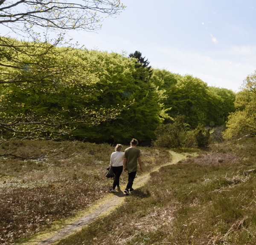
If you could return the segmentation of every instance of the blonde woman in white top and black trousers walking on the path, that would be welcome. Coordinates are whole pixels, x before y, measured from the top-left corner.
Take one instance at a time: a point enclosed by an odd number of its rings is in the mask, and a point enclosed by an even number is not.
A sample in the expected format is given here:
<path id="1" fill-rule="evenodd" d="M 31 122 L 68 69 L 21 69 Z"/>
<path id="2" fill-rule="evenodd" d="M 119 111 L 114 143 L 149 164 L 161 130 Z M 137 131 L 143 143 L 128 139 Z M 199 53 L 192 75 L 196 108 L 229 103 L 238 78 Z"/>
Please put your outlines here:
<path id="1" fill-rule="evenodd" d="M 115 147 L 115 152 L 111 154 L 110 157 L 110 163 L 109 166 L 113 167 L 113 172 L 115 174 L 114 182 L 113 182 L 113 187 L 111 189 L 111 192 L 117 192 L 115 190 L 116 186 L 119 189 L 120 184 L 119 184 L 119 178 L 120 175 L 122 174 L 123 171 L 123 157 L 124 157 L 124 152 L 121 151 L 122 145 L 117 144 Z"/>

